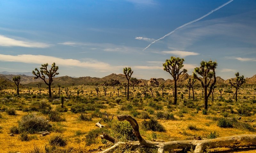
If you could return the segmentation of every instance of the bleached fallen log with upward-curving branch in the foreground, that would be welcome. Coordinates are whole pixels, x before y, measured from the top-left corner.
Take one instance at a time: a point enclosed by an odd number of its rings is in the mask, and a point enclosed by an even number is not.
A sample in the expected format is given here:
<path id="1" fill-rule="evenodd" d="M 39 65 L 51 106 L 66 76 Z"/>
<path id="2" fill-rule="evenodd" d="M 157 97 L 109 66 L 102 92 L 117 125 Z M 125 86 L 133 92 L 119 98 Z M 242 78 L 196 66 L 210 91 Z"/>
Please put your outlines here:
<path id="1" fill-rule="evenodd" d="M 206 148 L 217 148 L 217 147 L 250 147 L 256 146 L 256 135 L 235 135 L 227 136 L 216 139 L 207 140 L 183 140 L 183 141 L 170 141 L 170 142 L 152 142 L 144 140 L 139 132 L 139 124 L 130 115 L 117 115 L 117 119 L 120 121 L 127 120 L 131 123 L 133 128 L 133 134 L 137 137 L 138 141 L 134 142 L 116 142 L 113 139 L 108 139 L 106 136 L 101 136 L 101 138 L 106 138 L 107 140 L 115 143 L 112 147 L 101 151 L 99 153 L 113 152 L 116 148 L 154 148 L 158 149 L 158 153 L 164 153 L 171 149 L 184 149 L 192 148 L 195 149 L 195 153 L 200 153 Z"/>

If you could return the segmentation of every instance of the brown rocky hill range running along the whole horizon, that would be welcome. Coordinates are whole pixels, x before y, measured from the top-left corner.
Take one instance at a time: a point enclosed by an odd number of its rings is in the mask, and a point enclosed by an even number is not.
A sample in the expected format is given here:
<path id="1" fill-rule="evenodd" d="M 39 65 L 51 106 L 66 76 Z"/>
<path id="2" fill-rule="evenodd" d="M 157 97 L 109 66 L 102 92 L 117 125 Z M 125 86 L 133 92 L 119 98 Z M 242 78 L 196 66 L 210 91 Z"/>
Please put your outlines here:
<path id="1" fill-rule="evenodd" d="M 43 82 L 43 80 L 41 79 L 33 79 L 33 76 L 26 76 L 26 75 L 4 75 L 4 74 L 0 74 L 1 80 L 0 80 L 0 84 L 10 84 L 11 86 L 15 86 L 14 82 L 12 81 L 12 78 L 14 76 L 20 76 L 20 83 L 25 85 L 25 86 L 30 86 L 30 87 L 36 87 L 38 82 L 42 83 L 42 87 L 46 86 Z M 190 75 L 188 75 L 187 73 L 184 73 L 182 75 L 180 75 L 179 80 L 178 80 L 178 84 L 187 84 L 188 83 L 188 78 L 191 77 Z M 216 77 L 217 78 L 217 85 L 220 84 L 228 84 L 229 81 L 222 79 L 221 77 Z M 55 84 L 55 86 L 57 86 L 57 84 L 61 84 L 62 86 L 72 86 L 72 83 L 75 83 L 75 85 L 93 85 L 96 83 L 103 83 L 104 81 L 109 82 L 110 79 L 117 79 L 119 80 L 119 82 L 126 82 L 127 79 L 125 77 L 124 74 L 110 74 L 106 77 L 69 77 L 69 76 L 63 76 L 63 77 L 54 77 L 53 78 L 53 83 Z M 145 79 L 139 79 L 142 82 L 148 83 L 149 80 L 145 80 Z M 164 80 L 163 78 L 156 78 L 156 80 L 159 83 L 165 83 L 165 84 L 172 84 L 173 80 L 172 79 L 167 79 Z M 235 81 L 235 78 L 231 78 L 232 81 Z M 201 83 L 199 81 L 197 81 L 195 84 L 199 84 L 201 85 Z M 254 75 L 253 77 L 250 78 L 246 78 L 246 84 L 256 84 L 256 75 Z"/>

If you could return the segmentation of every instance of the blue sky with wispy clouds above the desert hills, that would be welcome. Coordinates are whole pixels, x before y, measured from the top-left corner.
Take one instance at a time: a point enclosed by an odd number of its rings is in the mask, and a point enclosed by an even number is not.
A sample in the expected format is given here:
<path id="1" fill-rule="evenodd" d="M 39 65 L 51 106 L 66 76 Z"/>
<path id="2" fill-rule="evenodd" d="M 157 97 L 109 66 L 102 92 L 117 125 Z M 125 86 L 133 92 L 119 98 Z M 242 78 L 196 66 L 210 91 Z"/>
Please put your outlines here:
<path id="1" fill-rule="evenodd" d="M 255 0 L 8 0 L 0 8 L 0 71 L 55 62 L 58 76 L 131 67 L 132 77 L 172 79 L 163 63 L 176 56 L 190 75 L 202 60 L 216 60 L 224 79 L 256 74 Z"/>

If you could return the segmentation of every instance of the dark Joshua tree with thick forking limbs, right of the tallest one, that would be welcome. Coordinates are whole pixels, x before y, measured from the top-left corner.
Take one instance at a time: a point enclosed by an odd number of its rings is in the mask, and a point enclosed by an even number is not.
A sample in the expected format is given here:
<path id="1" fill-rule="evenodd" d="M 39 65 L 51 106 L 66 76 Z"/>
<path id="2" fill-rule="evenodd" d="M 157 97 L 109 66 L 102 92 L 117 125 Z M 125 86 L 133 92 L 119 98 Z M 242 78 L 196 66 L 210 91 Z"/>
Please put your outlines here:
<path id="1" fill-rule="evenodd" d="M 212 62 L 210 60 L 209 62 L 202 61 L 200 62 L 200 67 L 196 67 L 193 72 L 193 77 L 197 80 L 199 80 L 202 84 L 202 87 L 204 88 L 204 109 L 208 109 L 208 98 L 210 94 L 212 93 L 212 88 L 216 83 L 216 76 L 215 76 L 215 69 L 217 67 L 217 62 Z M 203 77 L 203 80 L 199 77 L 197 77 L 197 74 Z M 213 81 L 212 81 L 213 78 Z M 207 80 L 208 79 L 208 80 Z M 207 82 L 208 81 L 208 82 Z M 210 87 L 209 93 L 207 93 L 207 88 Z"/>

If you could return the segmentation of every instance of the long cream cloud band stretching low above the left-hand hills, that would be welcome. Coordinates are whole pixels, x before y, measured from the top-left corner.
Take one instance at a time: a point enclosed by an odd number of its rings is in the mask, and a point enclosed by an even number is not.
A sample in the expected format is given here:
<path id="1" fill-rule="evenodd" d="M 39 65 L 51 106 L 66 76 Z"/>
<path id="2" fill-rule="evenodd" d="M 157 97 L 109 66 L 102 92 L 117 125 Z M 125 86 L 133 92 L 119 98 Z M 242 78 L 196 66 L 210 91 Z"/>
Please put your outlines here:
<path id="1" fill-rule="evenodd" d="M 53 62 L 56 65 L 60 66 L 76 66 L 82 68 L 94 69 L 95 71 L 107 72 L 115 69 L 108 63 L 99 62 L 95 59 L 85 59 L 84 61 L 79 61 L 76 59 L 62 59 L 53 56 L 44 56 L 44 55 L 3 55 L 0 54 L 0 61 L 6 62 L 23 62 L 23 63 L 36 63 L 36 64 L 44 64 Z"/>

